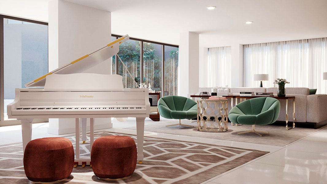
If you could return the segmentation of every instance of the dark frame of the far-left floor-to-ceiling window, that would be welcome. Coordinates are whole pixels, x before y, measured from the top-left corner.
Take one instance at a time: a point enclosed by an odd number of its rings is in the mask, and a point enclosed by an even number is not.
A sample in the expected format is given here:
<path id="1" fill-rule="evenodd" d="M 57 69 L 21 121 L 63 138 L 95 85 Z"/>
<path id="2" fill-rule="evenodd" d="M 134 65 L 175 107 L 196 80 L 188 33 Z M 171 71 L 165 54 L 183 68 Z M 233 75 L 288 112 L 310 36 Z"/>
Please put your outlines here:
<path id="1" fill-rule="evenodd" d="M 35 21 L 30 19 L 24 19 L 19 17 L 13 17 L 0 14 L 0 126 L 7 125 L 19 125 L 18 120 L 4 120 L 4 19 L 11 19 L 23 22 L 29 22 L 34 24 L 47 25 L 47 22 Z M 49 53 L 48 53 L 49 54 Z M 49 62 L 49 59 L 48 59 Z"/>

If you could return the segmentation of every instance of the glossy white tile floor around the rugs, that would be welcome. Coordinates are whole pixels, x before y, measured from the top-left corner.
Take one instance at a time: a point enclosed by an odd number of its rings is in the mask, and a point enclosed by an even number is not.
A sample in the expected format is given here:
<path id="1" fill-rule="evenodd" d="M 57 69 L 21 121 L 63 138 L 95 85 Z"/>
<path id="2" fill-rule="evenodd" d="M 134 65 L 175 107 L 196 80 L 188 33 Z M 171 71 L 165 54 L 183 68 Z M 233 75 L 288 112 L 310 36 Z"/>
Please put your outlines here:
<path id="1" fill-rule="evenodd" d="M 165 121 L 165 119 L 162 119 L 160 122 L 163 121 Z M 150 119 L 146 118 L 145 125 L 160 122 L 152 122 Z M 120 123 L 113 121 L 113 128 L 105 130 L 136 134 L 136 130 L 123 129 L 124 127 L 131 126 L 135 126 L 135 122 L 128 121 Z M 47 127 L 48 123 L 33 124 L 32 139 L 58 136 L 47 134 Z M 176 129 L 176 131 L 178 131 L 178 129 Z M 283 129 L 283 131 L 286 130 Z M 292 131 L 292 129 L 288 131 Z M 271 146 L 157 132 L 145 132 L 144 135 L 270 152 L 262 157 L 215 176 L 203 182 L 203 184 L 327 183 L 327 129 L 319 130 L 286 146 Z M 258 137 L 258 139 L 260 139 L 260 137 Z M 20 125 L 0 127 L 0 144 L 21 141 L 22 135 Z"/>

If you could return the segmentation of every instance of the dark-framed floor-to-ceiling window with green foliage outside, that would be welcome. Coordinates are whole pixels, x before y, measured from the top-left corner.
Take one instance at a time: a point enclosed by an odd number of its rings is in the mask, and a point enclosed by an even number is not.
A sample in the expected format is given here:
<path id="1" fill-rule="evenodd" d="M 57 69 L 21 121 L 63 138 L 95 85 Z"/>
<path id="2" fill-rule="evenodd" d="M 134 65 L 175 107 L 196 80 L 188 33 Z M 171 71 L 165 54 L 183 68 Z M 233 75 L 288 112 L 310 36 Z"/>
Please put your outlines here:
<path id="1" fill-rule="evenodd" d="M 112 35 L 112 40 L 119 37 Z M 145 83 L 161 96 L 177 95 L 178 45 L 129 38 L 119 46 L 118 56 L 121 61 L 112 57 L 112 74 L 123 76 L 125 88 Z"/>

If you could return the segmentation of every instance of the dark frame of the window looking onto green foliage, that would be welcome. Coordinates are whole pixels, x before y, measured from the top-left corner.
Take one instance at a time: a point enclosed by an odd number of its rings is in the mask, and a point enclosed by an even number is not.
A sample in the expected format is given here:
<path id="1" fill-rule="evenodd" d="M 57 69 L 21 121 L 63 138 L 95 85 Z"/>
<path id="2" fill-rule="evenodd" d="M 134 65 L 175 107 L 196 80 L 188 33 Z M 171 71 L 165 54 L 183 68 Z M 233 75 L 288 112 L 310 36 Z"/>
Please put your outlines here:
<path id="1" fill-rule="evenodd" d="M 118 34 L 111 34 L 112 37 L 115 37 L 116 39 L 124 36 L 124 35 L 118 35 Z M 140 83 L 143 83 L 143 42 L 148 42 L 148 43 L 154 43 L 154 44 L 159 44 L 162 47 L 162 53 L 161 53 L 161 85 L 162 85 L 162 89 L 161 89 L 161 96 L 164 96 L 164 46 L 170 46 L 170 47 L 176 47 L 179 48 L 179 45 L 174 45 L 174 44 L 169 44 L 169 43 L 163 43 L 163 42 L 155 42 L 155 41 L 151 41 L 151 40 L 144 40 L 144 39 L 139 39 L 139 38 L 133 38 L 133 37 L 129 37 L 129 40 L 135 40 L 135 41 L 140 41 L 141 42 L 141 47 L 140 47 Z M 115 73 L 114 74 L 118 74 L 118 57 L 115 57 Z"/>

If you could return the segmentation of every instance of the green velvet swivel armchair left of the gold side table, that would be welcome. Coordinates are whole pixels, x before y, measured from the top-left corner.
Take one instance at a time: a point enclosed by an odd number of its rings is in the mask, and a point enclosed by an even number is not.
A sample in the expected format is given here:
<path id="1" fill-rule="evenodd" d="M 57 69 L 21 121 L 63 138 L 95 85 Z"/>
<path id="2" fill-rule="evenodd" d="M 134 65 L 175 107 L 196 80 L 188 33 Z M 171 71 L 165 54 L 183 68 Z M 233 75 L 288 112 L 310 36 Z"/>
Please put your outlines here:
<path id="1" fill-rule="evenodd" d="M 164 96 L 158 100 L 159 114 L 167 119 L 178 119 L 179 123 L 174 125 L 166 126 L 190 126 L 181 124 L 181 119 L 193 119 L 197 117 L 198 104 L 190 99 L 183 96 Z"/>

